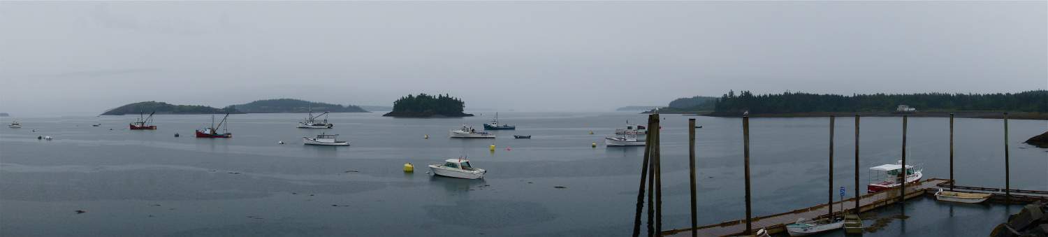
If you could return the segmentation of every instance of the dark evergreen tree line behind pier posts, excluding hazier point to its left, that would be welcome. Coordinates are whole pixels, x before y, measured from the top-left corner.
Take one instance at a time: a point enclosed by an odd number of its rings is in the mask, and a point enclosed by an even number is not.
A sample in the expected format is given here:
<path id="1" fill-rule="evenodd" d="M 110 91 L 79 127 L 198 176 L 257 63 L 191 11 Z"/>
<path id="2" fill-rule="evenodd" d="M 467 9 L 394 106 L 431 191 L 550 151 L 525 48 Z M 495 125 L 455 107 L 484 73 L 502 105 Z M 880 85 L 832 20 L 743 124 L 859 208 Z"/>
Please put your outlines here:
<path id="1" fill-rule="evenodd" d="M 1048 90 L 1019 93 L 912 93 L 912 94 L 815 94 L 784 92 L 752 94 L 728 91 L 717 99 L 714 113 L 873 112 L 894 111 L 909 105 L 918 111 L 1024 111 L 1048 112 Z"/>

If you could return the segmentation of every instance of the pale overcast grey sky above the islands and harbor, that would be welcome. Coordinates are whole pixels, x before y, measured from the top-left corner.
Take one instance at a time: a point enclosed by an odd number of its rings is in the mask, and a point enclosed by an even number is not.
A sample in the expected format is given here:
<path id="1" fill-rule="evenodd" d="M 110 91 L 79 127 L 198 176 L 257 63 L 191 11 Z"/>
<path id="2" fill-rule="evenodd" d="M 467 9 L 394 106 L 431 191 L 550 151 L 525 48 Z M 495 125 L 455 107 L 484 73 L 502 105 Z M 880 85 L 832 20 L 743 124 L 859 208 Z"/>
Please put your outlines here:
<path id="1" fill-rule="evenodd" d="M 0 111 L 296 98 L 611 110 L 757 93 L 1048 88 L 1027 2 L 0 2 Z"/>

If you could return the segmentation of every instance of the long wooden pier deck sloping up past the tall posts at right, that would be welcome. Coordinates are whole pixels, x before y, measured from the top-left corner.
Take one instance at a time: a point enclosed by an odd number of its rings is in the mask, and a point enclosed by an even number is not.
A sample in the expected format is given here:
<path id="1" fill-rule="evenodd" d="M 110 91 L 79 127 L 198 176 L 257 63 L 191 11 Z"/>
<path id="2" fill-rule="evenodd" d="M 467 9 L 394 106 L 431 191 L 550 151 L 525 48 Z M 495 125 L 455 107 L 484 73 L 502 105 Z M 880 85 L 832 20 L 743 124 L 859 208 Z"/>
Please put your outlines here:
<path id="1" fill-rule="evenodd" d="M 931 178 L 922 180 L 914 186 L 907 186 L 907 198 L 918 197 L 924 195 L 925 190 L 935 190 L 939 188 L 939 185 L 948 184 L 948 179 L 941 178 Z M 956 186 L 955 186 L 955 189 Z M 1014 196 L 1014 194 L 1012 194 Z M 863 195 L 859 199 L 859 211 L 867 212 L 880 207 L 885 207 L 898 201 L 899 192 L 898 190 L 886 191 L 879 193 L 871 193 Z M 839 208 L 840 201 L 833 202 L 835 215 L 840 214 Z M 855 209 L 855 198 L 848 198 L 844 200 L 845 210 Z M 771 234 L 782 233 L 786 230 L 786 224 L 793 223 L 798 218 L 814 219 L 818 217 L 824 217 L 827 215 L 829 210 L 827 210 L 827 204 L 818 204 L 811 208 L 793 210 L 787 213 L 780 213 L 769 216 L 759 216 L 754 217 L 754 230 L 765 229 Z M 718 224 L 709 224 L 704 227 L 698 227 L 699 236 L 732 236 L 742 234 L 746 229 L 746 220 L 733 220 L 727 222 L 722 222 Z M 662 232 L 663 236 L 691 236 L 692 229 L 678 229 L 672 231 Z"/>

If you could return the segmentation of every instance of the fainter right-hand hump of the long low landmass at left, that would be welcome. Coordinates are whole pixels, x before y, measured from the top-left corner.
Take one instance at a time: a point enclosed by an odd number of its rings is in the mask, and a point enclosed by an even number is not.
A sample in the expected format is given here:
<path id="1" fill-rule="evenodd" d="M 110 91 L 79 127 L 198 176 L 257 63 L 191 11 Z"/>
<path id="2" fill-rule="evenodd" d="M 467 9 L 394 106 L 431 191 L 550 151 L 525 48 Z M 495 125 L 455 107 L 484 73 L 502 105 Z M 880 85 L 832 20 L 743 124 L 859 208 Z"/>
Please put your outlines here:
<path id="1" fill-rule="evenodd" d="M 260 100 L 243 105 L 231 105 L 225 109 L 245 113 L 368 112 L 355 105 L 342 106 L 296 99 Z"/>

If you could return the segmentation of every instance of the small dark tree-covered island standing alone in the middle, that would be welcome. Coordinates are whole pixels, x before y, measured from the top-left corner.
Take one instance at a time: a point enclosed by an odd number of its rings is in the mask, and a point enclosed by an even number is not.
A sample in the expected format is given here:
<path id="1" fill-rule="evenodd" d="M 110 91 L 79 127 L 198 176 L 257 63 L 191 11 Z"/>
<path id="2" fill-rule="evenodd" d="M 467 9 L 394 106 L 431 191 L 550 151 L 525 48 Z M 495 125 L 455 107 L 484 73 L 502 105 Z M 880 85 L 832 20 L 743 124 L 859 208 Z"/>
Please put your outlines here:
<path id="1" fill-rule="evenodd" d="M 473 114 L 463 113 L 462 109 L 464 108 L 465 102 L 449 94 L 437 94 L 436 96 L 425 93 L 408 94 L 393 102 L 393 111 L 383 114 L 383 116 L 473 116 Z"/>

